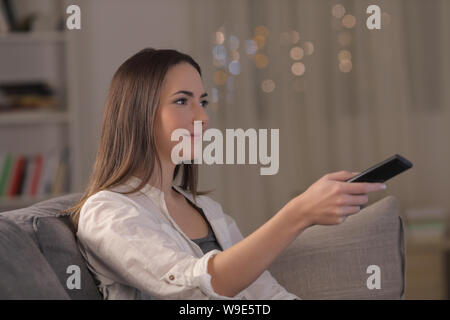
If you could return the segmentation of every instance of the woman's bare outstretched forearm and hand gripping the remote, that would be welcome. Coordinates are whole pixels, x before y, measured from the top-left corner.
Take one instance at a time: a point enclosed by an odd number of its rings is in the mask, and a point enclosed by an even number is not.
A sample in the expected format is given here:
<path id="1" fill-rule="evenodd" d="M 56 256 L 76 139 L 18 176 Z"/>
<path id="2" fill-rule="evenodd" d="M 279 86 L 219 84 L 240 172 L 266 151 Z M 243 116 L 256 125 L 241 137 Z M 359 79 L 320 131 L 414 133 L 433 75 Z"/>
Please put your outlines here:
<path id="1" fill-rule="evenodd" d="M 252 284 L 300 233 L 315 224 L 339 224 L 367 203 L 380 183 L 347 183 L 354 173 L 327 174 L 289 201 L 245 239 L 211 257 L 208 273 L 218 294 L 233 297 Z"/>

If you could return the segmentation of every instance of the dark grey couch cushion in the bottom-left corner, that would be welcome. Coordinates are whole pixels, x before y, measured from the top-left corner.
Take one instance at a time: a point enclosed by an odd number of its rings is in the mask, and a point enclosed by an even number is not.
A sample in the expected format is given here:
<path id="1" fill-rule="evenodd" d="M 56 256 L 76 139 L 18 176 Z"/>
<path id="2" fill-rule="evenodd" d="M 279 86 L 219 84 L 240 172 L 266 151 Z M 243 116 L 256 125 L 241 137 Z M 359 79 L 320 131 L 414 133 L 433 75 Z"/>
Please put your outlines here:
<path id="1" fill-rule="evenodd" d="M 0 218 L 0 299 L 69 299 L 33 240 Z"/>

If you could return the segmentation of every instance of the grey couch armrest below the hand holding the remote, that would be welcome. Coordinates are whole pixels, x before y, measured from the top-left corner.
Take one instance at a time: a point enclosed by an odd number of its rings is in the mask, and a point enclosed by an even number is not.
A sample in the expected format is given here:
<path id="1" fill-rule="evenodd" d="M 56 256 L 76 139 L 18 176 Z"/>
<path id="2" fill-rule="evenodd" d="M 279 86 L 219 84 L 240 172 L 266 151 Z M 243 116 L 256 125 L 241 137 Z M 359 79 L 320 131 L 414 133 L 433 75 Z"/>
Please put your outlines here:
<path id="1" fill-rule="evenodd" d="M 371 265 L 380 268 L 380 289 L 367 286 Z M 303 299 L 403 298 L 405 247 L 396 198 L 387 196 L 340 225 L 308 228 L 269 271 Z"/>

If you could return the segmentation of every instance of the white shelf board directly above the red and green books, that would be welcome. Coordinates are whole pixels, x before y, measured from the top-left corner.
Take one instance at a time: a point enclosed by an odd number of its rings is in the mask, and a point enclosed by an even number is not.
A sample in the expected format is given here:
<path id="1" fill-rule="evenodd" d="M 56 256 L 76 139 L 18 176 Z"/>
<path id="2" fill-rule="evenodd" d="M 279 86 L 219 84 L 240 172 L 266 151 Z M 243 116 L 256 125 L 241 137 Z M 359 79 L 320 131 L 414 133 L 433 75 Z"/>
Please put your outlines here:
<path id="1" fill-rule="evenodd" d="M 69 122 L 69 113 L 67 111 L 0 112 L 0 126 L 67 122 Z"/>

